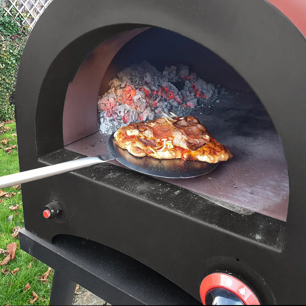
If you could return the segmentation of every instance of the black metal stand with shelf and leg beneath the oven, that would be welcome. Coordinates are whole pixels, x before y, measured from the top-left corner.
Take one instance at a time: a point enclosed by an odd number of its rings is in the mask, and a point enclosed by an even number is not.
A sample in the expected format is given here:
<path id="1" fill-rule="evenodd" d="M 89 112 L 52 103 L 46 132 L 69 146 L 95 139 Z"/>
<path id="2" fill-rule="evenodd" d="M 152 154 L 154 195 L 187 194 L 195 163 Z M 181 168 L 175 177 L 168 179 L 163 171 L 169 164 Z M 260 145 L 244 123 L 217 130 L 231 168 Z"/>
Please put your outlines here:
<path id="1" fill-rule="evenodd" d="M 71 305 L 76 284 L 112 305 L 202 305 L 159 273 L 106 245 L 70 235 L 55 236 L 50 244 L 25 228 L 19 241 L 23 251 L 55 270 L 49 305 Z"/>

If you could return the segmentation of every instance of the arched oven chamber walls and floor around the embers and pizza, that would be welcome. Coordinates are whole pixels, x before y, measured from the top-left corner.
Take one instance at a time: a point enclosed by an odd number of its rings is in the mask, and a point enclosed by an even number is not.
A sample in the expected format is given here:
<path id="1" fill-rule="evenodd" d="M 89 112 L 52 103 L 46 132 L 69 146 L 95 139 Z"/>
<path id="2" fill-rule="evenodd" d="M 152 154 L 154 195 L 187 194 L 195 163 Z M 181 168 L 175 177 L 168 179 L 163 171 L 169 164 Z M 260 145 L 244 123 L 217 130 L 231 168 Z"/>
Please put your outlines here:
<path id="1" fill-rule="evenodd" d="M 166 66 L 187 65 L 207 83 L 226 89 L 219 90 L 214 101 L 190 108 L 190 114 L 230 149 L 233 159 L 221 162 L 207 175 L 160 180 L 241 214 L 258 212 L 285 221 L 289 201 L 288 168 L 281 140 L 263 104 L 239 72 L 218 55 L 166 29 L 146 27 L 126 31 L 88 54 L 65 97 L 65 149 L 87 156 L 107 152 L 109 135 L 102 134 L 97 124 L 99 96 L 104 95 L 110 80 L 119 72 L 143 61 L 160 72 Z M 122 166 L 116 161 L 112 163 Z"/>

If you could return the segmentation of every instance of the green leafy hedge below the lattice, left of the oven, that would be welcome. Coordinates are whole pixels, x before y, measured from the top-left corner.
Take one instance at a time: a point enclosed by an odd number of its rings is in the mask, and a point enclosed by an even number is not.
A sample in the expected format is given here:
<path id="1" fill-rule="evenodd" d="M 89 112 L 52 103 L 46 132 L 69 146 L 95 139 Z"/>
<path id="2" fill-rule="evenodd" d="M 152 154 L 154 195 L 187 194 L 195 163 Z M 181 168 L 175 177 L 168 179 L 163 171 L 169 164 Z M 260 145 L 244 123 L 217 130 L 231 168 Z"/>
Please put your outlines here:
<path id="1" fill-rule="evenodd" d="M 14 118 L 17 70 L 29 34 L 27 27 L 19 26 L 20 17 L 5 12 L 0 8 L 0 122 Z"/>

